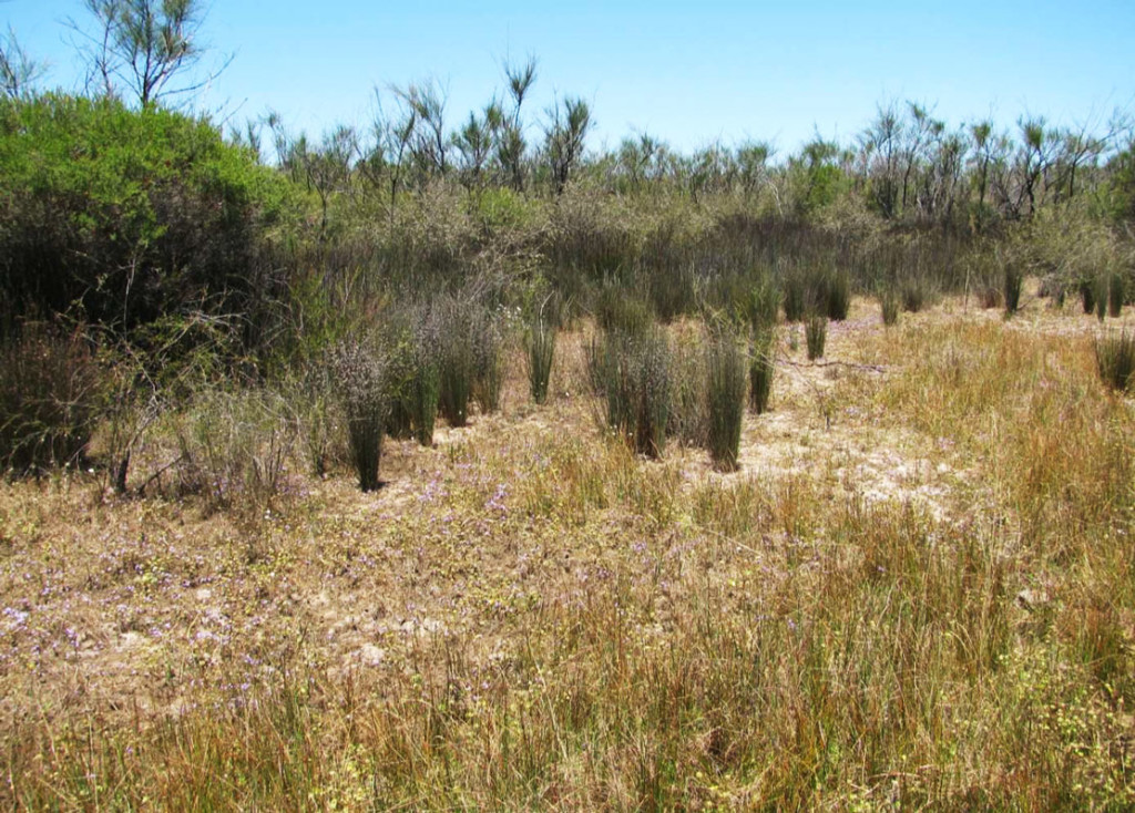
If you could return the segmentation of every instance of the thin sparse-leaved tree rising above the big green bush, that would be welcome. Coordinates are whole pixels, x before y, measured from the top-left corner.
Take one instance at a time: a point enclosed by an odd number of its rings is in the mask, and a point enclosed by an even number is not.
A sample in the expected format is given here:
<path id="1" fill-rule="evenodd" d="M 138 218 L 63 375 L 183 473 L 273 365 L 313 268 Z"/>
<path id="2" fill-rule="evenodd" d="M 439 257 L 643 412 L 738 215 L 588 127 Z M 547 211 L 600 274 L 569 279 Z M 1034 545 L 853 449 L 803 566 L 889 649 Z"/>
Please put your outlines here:
<path id="1" fill-rule="evenodd" d="M 99 31 L 87 35 L 89 84 L 107 95 L 124 88 L 149 108 L 165 95 L 192 93 L 216 78 L 179 81 L 201 59 L 202 0 L 84 0 Z M 72 24 L 76 31 L 78 26 Z M 227 62 L 226 62 L 227 65 Z M 224 69 L 225 66 L 221 66 Z"/>

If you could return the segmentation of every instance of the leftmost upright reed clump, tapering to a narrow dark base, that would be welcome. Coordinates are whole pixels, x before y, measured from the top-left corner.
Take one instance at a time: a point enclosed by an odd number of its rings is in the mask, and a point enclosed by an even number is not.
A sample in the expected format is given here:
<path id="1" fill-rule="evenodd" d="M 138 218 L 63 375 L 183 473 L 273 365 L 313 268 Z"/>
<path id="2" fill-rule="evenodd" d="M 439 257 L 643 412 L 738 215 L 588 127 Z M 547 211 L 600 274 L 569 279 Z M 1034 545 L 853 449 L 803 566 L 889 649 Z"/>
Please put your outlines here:
<path id="1" fill-rule="evenodd" d="M 376 491 L 389 408 L 386 359 L 369 344 L 345 341 L 336 348 L 334 369 L 359 488 Z"/>

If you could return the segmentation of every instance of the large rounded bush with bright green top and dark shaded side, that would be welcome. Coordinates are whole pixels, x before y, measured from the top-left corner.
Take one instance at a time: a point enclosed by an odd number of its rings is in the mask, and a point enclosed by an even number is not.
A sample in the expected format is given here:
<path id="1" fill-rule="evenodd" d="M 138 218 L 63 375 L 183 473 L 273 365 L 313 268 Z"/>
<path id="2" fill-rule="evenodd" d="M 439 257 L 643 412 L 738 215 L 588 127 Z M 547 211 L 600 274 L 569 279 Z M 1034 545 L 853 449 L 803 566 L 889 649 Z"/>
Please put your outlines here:
<path id="1" fill-rule="evenodd" d="M 259 255 L 287 209 L 283 178 L 208 121 L 65 95 L 0 105 L 0 297 L 18 311 L 246 311 L 276 285 Z"/>

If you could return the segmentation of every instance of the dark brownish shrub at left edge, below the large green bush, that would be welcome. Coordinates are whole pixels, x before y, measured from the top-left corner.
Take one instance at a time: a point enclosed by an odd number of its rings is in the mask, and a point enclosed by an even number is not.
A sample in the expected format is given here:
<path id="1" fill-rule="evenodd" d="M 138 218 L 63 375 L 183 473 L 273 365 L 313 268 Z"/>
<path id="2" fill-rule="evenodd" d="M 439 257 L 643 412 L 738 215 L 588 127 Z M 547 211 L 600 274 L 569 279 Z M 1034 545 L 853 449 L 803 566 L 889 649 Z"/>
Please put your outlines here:
<path id="1" fill-rule="evenodd" d="M 0 466 L 22 475 L 77 464 L 94 426 L 98 374 L 81 331 L 24 324 L 0 344 Z"/>

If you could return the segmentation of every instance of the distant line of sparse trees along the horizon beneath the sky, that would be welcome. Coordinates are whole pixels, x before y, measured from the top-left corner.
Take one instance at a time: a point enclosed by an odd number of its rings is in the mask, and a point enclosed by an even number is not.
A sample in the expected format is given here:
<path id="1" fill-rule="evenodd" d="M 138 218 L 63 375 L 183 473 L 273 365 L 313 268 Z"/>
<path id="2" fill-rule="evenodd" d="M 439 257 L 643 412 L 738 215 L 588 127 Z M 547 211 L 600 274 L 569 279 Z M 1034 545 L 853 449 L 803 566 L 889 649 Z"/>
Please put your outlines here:
<path id="1" fill-rule="evenodd" d="M 1023 117 L 999 130 L 991 119 L 951 125 L 915 102 L 881 105 L 849 143 L 816 137 L 780 155 L 767 142 L 714 143 L 690 153 L 646 133 L 606 152 L 587 152 L 587 103 L 556 102 L 526 120 L 536 63 L 505 67 L 507 92 L 457 127 L 435 83 L 378 91 L 385 104 L 365 132 L 339 126 L 321 141 L 293 137 L 271 115 L 230 133 L 326 203 L 331 194 L 400 192 L 439 180 L 470 193 L 507 188 L 562 194 L 569 183 L 620 195 L 669 194 L 704 201 L 728 195 L 767 217 L 804 218 L 841 201 L 883 223 L 984 231 L 1085 195 L 1102 214 L 1133 214 L 1132 121 L 1052 126 Z M 271 150 L 264 149 L 264 134 Z"/>

